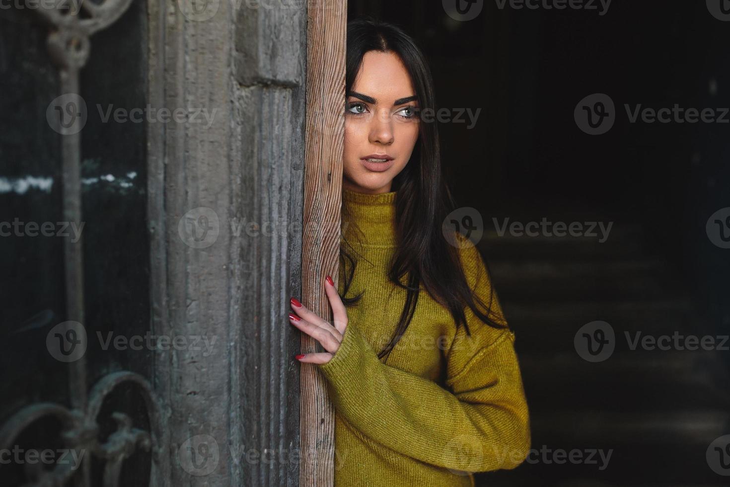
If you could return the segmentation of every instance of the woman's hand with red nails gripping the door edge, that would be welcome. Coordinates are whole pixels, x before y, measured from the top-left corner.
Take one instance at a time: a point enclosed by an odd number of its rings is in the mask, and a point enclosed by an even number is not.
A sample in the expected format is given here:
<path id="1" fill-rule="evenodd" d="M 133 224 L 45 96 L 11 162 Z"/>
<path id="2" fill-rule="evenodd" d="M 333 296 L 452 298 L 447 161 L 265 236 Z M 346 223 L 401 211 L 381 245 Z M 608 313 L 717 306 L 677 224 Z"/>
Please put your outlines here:
<path id="1" fill-rule="evenodd" d="M 299 300 L 291 299 L 291 309 L 296 312 L 289 313 L 289 323 L 296 326 L 304 333 L 310 335 L 322 344 L 326 352 L 321 353 L 302 353 L 296 358 L 301 362 L 309 362 L 310 364 L 326 364 L 334 356 L 342 343 L 342 335 L 345 334 L 347 328 L 347 311 L 342 299 L 339 299 L 337 288 L 334 287 L 332 278 L 327 276 L 324 290 L 332 307 L 332 315 L 334 317 L 334 326 L 323 320 L 314 312 L 307 310 Z"/>

